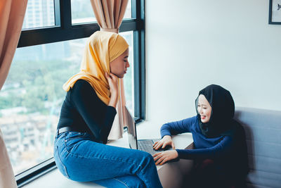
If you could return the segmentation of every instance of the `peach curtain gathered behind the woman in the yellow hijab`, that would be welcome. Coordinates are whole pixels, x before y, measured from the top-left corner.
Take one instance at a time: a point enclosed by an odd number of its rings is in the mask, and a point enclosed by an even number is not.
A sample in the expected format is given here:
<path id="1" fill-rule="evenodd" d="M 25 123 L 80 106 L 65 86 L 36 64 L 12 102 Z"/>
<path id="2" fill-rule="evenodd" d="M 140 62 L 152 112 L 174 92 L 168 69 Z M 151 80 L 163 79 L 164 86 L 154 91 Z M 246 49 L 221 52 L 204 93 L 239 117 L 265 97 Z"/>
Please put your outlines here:
<path id="1" fill-rule="evenodd" d="M 127 4 L 128 0 L 91 0 L 93 12 L 96 15 L 98 25 L 100 25 L 100 30 L 118 33 Z M 120 97 L 117 103 L 117 115 L 115 116 L 108 139 L 122 138 L 124 126 L 127 125 L 124 82 L 123 79 L 119 81 Z"/>

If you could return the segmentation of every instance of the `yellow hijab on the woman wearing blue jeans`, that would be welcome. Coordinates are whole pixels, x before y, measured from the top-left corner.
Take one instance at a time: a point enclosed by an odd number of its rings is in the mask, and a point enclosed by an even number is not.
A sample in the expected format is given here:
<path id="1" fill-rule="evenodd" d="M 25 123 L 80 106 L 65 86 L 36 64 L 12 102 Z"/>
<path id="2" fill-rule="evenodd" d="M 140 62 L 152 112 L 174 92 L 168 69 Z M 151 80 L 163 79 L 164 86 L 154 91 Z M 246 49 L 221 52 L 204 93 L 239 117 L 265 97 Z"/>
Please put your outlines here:
<path id="1" fill-rule="evenodd" d="M 113 32 L 94 32 L 86 42 L 80 72 L 70 77 L 63 84 L 68 92 L 77 80 L 86 80 L 95 89 L 98 98 L 105 104 L 110 101 L 110 87 L 105 72 L 110 73 L 110 62 L 128 49 L 129 44 L 121 36 Z"/>

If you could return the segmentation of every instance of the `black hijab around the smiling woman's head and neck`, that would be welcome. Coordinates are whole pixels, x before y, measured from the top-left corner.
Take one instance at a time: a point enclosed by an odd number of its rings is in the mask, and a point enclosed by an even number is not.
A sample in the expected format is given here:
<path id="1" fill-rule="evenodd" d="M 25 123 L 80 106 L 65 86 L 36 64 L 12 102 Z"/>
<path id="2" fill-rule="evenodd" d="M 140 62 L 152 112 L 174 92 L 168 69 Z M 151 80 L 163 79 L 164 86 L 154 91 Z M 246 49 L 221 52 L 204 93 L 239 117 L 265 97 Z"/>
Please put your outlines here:
<path id="1" fill-rule="evenodd" d="M 211 106 L 211 117 L 208 123 L 202 123 L 197 111 L 198 97 L 204 95 Z M 206 137 L 232 135 L 235 131 L 233 116 L 235 105 L 233 97 L 223 87 L 211 84 L 202 89 L 195 100 L 197 116 L 202 134 Z"/>

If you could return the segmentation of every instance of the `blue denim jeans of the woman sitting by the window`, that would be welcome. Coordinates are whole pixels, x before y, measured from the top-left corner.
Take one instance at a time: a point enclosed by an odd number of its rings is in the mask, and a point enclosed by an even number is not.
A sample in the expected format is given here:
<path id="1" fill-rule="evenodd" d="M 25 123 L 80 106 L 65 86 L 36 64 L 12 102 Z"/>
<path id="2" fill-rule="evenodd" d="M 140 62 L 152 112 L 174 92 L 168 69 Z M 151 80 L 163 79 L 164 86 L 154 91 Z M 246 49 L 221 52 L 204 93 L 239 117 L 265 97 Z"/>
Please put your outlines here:
<path id="1" fill-rule="evenodd" d="M 70 180 L 105 187 L 162 187 L 149 153 L 93 142 L 86 132 L 63 132 L 55 137 L 54 158 Z"/>

